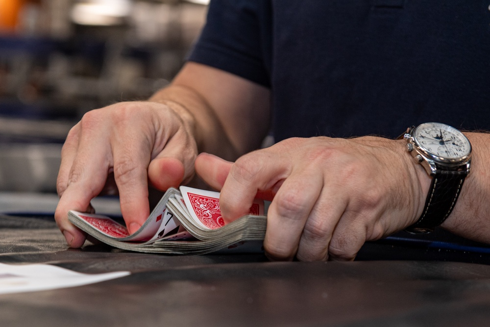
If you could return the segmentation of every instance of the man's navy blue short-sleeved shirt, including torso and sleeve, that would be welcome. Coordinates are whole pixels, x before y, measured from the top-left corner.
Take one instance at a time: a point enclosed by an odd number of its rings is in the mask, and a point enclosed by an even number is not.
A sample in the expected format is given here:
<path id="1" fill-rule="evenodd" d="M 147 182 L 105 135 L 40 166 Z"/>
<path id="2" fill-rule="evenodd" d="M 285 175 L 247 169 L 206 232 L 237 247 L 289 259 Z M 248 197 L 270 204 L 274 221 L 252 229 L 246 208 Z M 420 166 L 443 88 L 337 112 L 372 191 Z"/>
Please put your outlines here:
<path id="1" fill-rule="evenodd" d="M 189 60 L 269 87 L 276 141 L 490 130 L 489 4 L 212 0 Z"/>

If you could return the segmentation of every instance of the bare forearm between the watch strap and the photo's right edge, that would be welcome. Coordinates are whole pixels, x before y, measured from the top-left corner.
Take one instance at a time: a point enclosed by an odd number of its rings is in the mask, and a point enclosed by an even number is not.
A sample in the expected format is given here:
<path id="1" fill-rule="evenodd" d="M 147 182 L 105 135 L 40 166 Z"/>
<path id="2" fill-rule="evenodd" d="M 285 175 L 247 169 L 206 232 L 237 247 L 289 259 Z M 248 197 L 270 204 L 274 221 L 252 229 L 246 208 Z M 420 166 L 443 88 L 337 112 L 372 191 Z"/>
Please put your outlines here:
<path id="1" fill-rule="evenodd" d="M 465 133 L 471 142 L 471 171 L 453 212 L 442 224 L 466 238 L 490 243 L 490 134 Z"/>

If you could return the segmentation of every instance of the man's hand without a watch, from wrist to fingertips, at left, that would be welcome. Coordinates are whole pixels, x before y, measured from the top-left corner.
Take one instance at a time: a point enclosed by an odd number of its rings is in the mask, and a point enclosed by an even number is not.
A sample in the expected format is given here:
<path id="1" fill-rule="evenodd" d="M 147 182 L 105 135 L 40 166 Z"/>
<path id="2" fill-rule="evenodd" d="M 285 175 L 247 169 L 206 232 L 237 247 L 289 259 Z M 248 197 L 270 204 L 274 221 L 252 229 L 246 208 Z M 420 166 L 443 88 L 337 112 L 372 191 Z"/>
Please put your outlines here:
<path id="1" fill-rule="evenodd" d="M 149 215 L 148 181 L 163 191 L 194 176 L 194 129 L 193 115 L 173 102 L 121 102 L 86 113 L 67 136 L 57 179 L 54 216 L 68 245 L 85 242 L 68 211 L 93 211 L 99 194 L 118 193 L 126 226 L 136 231 Z"/>

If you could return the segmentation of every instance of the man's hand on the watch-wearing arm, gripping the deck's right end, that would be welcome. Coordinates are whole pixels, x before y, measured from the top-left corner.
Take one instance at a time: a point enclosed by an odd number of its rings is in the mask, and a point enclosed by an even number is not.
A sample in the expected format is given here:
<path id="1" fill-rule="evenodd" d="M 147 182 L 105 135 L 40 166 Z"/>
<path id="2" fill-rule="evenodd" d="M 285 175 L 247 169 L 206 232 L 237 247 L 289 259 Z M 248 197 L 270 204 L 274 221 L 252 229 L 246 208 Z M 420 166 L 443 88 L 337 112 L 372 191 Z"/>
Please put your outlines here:
<path id="1" fill-rule="evenodd" d="M 271 200 L 264 248 L 270 259 L 353 260 L 366 241 L 414 224 L 430 178 L 380 137 L 291 138 L 235 163 L 201 153 L 196 173 L 220 190 L 226 222 L 255 197 Z"/>

